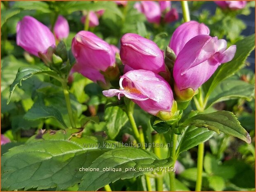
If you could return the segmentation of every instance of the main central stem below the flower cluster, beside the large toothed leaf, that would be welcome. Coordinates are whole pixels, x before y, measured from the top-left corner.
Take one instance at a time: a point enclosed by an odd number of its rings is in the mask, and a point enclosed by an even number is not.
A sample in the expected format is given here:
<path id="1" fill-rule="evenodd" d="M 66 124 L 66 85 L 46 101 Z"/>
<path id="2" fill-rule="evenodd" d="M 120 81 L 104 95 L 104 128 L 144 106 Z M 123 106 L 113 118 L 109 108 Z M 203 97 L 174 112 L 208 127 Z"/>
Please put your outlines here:
<path id="1" fill-rule="evenodd" d="M 174 167 L 176 161 L 176 144 L 177 144 L 177 135 L 171 131 L 171 144 L 170 147 L 170 157 L 173 160 L 171 167 Z M 175 191 L 175 172 L 169 172 L 169 181 L 170 181 L 170 191 Z"/>

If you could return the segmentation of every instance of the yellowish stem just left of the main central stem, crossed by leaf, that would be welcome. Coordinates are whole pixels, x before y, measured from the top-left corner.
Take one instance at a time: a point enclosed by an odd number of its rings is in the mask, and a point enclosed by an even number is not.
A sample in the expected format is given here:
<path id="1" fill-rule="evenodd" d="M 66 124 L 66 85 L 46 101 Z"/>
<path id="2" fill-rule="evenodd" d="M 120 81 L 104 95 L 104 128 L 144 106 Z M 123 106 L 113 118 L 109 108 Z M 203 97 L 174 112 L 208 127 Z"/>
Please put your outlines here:
<path id="1" fill-rule="evenodd" d="M 152 135 L 152 139 L 153 139 L 153 142 L 155 145 L 160 144 L 161 138 L 160 138 L 159 133 Z M 156 156 L 158 156 L 161 159 L 161 151 L 160 151 L 159 145 L 158 145 L 158 147 L 156 147 L 156 146 L 153 147 L 153 152 L 154 152 L 154 154 L 156 154 Z M 156 191 L 163 191 L 164 181 L 163 181 L 163 177 L 161 176 L 162 172 L 160 171 L 160 172 L 158 172 L 158 174 L 159 174 L 159 177 L 157 177 L 155 179 Z"/>

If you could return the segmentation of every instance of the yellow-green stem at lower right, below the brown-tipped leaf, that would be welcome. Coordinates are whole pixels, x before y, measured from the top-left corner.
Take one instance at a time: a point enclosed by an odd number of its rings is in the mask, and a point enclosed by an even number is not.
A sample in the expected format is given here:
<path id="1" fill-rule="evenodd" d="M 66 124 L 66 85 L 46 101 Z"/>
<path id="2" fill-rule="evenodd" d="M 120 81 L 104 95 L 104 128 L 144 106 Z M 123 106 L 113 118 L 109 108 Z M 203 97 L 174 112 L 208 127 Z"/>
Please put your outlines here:
<path id="1" fill-rule="evenodd" d="M 198 152 L 197 152 L 197 182 L 196 182 L 195 191 L 201 191 L 203 160 L 204 160 L 204 143 L 200 143 L 198 145 Z"/>

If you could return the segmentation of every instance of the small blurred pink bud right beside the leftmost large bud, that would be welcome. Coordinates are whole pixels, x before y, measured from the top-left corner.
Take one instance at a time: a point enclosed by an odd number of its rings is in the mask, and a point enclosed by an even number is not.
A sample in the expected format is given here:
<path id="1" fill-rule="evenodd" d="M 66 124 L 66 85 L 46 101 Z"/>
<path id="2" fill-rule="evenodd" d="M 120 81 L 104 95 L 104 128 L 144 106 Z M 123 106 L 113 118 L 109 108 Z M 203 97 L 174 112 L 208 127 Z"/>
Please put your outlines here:
<path id="1" fill-rule="evenodd" d="M 60 15 L 55 23 L 53 31 L 57 40 L 62 40 L 64 38 L 67 38 L 69 36 L 68 21 Z"/>

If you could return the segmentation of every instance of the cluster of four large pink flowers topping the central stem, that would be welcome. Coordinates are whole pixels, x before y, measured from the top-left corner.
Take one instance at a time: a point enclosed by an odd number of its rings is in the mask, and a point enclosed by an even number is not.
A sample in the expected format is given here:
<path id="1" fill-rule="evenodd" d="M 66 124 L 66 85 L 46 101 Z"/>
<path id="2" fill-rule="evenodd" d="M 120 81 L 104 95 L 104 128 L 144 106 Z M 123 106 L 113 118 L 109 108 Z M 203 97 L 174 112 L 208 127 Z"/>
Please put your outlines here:
<path id="1" fill-rule="evenodd" d="M 180 25 L 169 46 L 177 55 L 173 67 L 174 90 L 178 100 L 191 100 L 218 66 L 229 62 L 236 46 L 209 36 L 209 28 L 196 21 Z M 107 97 L 126 96 L 149 114 L 170 119 L 176 105 L 169 82 L 159 74 L 166 72 L 163 52 L 149 39 L 127 33 L 121 38 L 121 61 L 125 65 L 120 89 L 103 91 Z"/>

